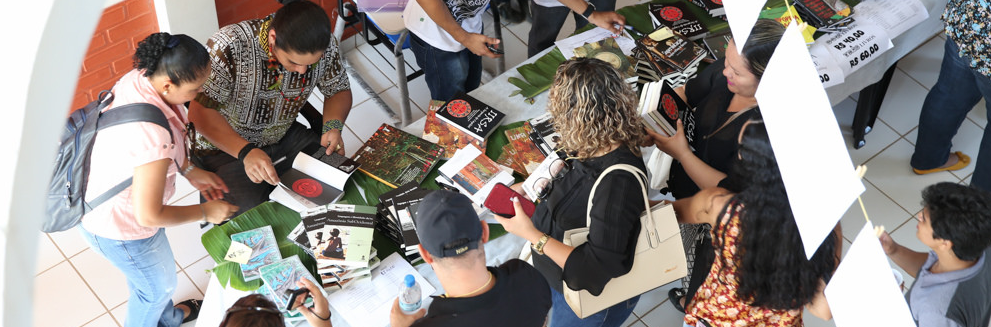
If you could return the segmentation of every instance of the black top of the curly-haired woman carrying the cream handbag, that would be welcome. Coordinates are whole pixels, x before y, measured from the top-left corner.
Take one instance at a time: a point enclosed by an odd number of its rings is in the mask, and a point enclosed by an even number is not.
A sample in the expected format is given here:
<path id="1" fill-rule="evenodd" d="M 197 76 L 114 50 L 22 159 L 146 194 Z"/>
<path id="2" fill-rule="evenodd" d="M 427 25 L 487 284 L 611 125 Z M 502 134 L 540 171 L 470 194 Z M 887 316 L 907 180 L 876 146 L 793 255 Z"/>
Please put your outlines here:
<path id="1" fill-rule="evenodd" d="M 592 185 L 603 170 L 620 163 L 646 171 L 643 159 L 624 146 L 601 157 L 571 160 L 571 171 L 552 182 L 550 195 L 533 213 L 537 230 L 561 240 L 565 231 L 585 227 Z M 564 269 L 533 252 L 533 266 L 551 287 L 561 292 L 561 281 L 565 281 L 571 289 L 598 295 L 610 279 L 630 271 L 644 211 L 643 191 L 636 178 L 626 171 L 614 171 L 602 179 L 592 203 L 588 242 L 571 252 Z"/>

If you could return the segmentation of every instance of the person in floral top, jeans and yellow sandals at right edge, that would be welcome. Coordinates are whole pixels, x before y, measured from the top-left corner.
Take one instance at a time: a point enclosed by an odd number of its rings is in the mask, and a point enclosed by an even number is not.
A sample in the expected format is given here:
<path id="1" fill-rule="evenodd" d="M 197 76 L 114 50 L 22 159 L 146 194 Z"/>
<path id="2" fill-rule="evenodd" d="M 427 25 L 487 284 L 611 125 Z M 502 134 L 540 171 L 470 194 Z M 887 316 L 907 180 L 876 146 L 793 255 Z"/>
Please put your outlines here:
<path id="1" fill-rule="evenodd" d="M 939 79 L 922 104 L 912 170 L 928 174 L 967 167 L 970 157 L 950 153 L 967 113 L 983 97 L 991 118 L 991 5 L 988 0 L 950 0 L 943 12 L 946 45 Z M 977 154 L 970 184 L 991 191 L 991 130 Z"/>

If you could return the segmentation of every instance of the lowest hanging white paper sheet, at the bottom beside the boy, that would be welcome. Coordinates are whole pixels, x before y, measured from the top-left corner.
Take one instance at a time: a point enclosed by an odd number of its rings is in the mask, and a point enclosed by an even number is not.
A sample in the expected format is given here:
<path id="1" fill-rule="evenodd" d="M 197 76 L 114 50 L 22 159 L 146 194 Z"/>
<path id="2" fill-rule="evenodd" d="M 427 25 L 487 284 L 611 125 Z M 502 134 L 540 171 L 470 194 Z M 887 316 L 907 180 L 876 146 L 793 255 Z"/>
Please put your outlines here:
<path id="1" fill-rule="evenodd" d="M 857 234 L 825 293 L 837 327 L 915 327 L 870 223 Z"/>

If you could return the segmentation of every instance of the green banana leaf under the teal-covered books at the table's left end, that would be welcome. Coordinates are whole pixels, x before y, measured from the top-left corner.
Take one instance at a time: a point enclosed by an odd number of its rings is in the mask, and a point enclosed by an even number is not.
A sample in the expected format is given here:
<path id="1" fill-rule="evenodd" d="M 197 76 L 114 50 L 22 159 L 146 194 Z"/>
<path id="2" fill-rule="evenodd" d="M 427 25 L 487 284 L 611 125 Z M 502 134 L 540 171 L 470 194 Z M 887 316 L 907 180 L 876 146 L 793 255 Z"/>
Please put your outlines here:
<path id="1" fill-rule="evenodd" d="M 252 230 L 263 226 L 272 226 L 272 232 L 279 243 L 279 252 L 283 258 L 293 255 L 299 256 L 300 261 L 310 271 L 310 274 L 320 280 L 317 274 L 317 263 L 312 256 L 303 251 L 292 241 L 286 238 L 289 232 L 300 222 L 299 213 L 287 208 L 277 202 L 265 202 L 245 213 L 231 219 L 226 224 L 211 228 L 200 238 L 206 252 L 217 264 L 211 269 L 213 275 L 217 277 L 220 285 L 228 285 L 241 291 L 254 291 L 262 285 L 261 279 L 250 282 L 244 281 L 241 274 L 241 265 L 236 262 L 224 260 L 227 249 L 231 246 L 231 235 L 243 231 Z"/>

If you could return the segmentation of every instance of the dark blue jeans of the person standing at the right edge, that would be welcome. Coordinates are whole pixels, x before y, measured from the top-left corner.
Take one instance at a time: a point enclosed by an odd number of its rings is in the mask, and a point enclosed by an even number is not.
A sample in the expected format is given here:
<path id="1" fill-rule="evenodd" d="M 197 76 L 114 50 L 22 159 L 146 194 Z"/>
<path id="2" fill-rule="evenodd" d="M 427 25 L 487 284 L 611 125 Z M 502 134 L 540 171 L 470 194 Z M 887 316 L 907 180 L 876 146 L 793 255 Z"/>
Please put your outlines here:
<path id="1" fill-rule="evenodd" d="M 971 69 L 970 61 L 969 57 L 960 57 L 953 41 L 946 40 L 939 79 L 922 103 L 913 168 L 932 169 L 946 163 L 953 136 L 981 97 L 986 99 L 991 118 L 991 78 Z M 991 130 L 984 130 L 970 183 L 991 191 Z"/>

